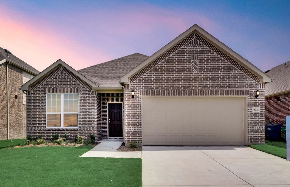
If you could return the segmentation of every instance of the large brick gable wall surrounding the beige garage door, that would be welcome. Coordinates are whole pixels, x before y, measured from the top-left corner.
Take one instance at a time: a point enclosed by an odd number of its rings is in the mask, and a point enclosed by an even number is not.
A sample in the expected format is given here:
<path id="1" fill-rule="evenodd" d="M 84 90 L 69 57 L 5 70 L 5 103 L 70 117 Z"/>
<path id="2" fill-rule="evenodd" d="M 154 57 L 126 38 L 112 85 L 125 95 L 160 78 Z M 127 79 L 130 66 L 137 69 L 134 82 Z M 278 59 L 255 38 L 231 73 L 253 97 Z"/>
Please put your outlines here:
<path id="1" fill-rule="evenodd" d="M 197 33 L 145 66 L 130 82 L 125 85 L 126 143 L 142 141 L 141 96 L 145 95 L 248 96 L 248 143 L 264 143 L 264 84 Z M 260 96 L 256 99 L 258 87 Z M 131 89 L 135 90 L 134 99 Z M 252 113 L 253 106 L 261 107 L 261 112 Z"/>

